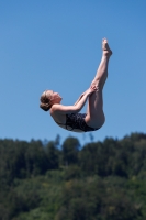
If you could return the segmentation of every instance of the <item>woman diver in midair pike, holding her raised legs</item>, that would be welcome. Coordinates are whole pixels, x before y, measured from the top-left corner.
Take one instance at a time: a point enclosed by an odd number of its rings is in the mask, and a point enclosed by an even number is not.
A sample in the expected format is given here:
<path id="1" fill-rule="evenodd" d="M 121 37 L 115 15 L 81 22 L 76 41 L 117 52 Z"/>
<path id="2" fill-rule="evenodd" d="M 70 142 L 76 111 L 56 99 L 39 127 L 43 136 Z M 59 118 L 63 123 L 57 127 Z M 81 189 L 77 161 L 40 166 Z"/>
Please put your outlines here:
<path id="1" fill-rule="evenodd" d="M 54 121 L 61 128 L 74 132 L 88 132 L 100 129 L 105 117 L 103 113 L 102 89 L 108 77 L 108 64 L 112 51 L 108 40 L 102 40 L 102 58 L 96 77 L 74 106 L 60 105 L 61 97 L 53 90 L 45 90 L 41 96 L 40 107 L 50 112 Z M 88 99 L 87 113 L 79 113 Z"/>

